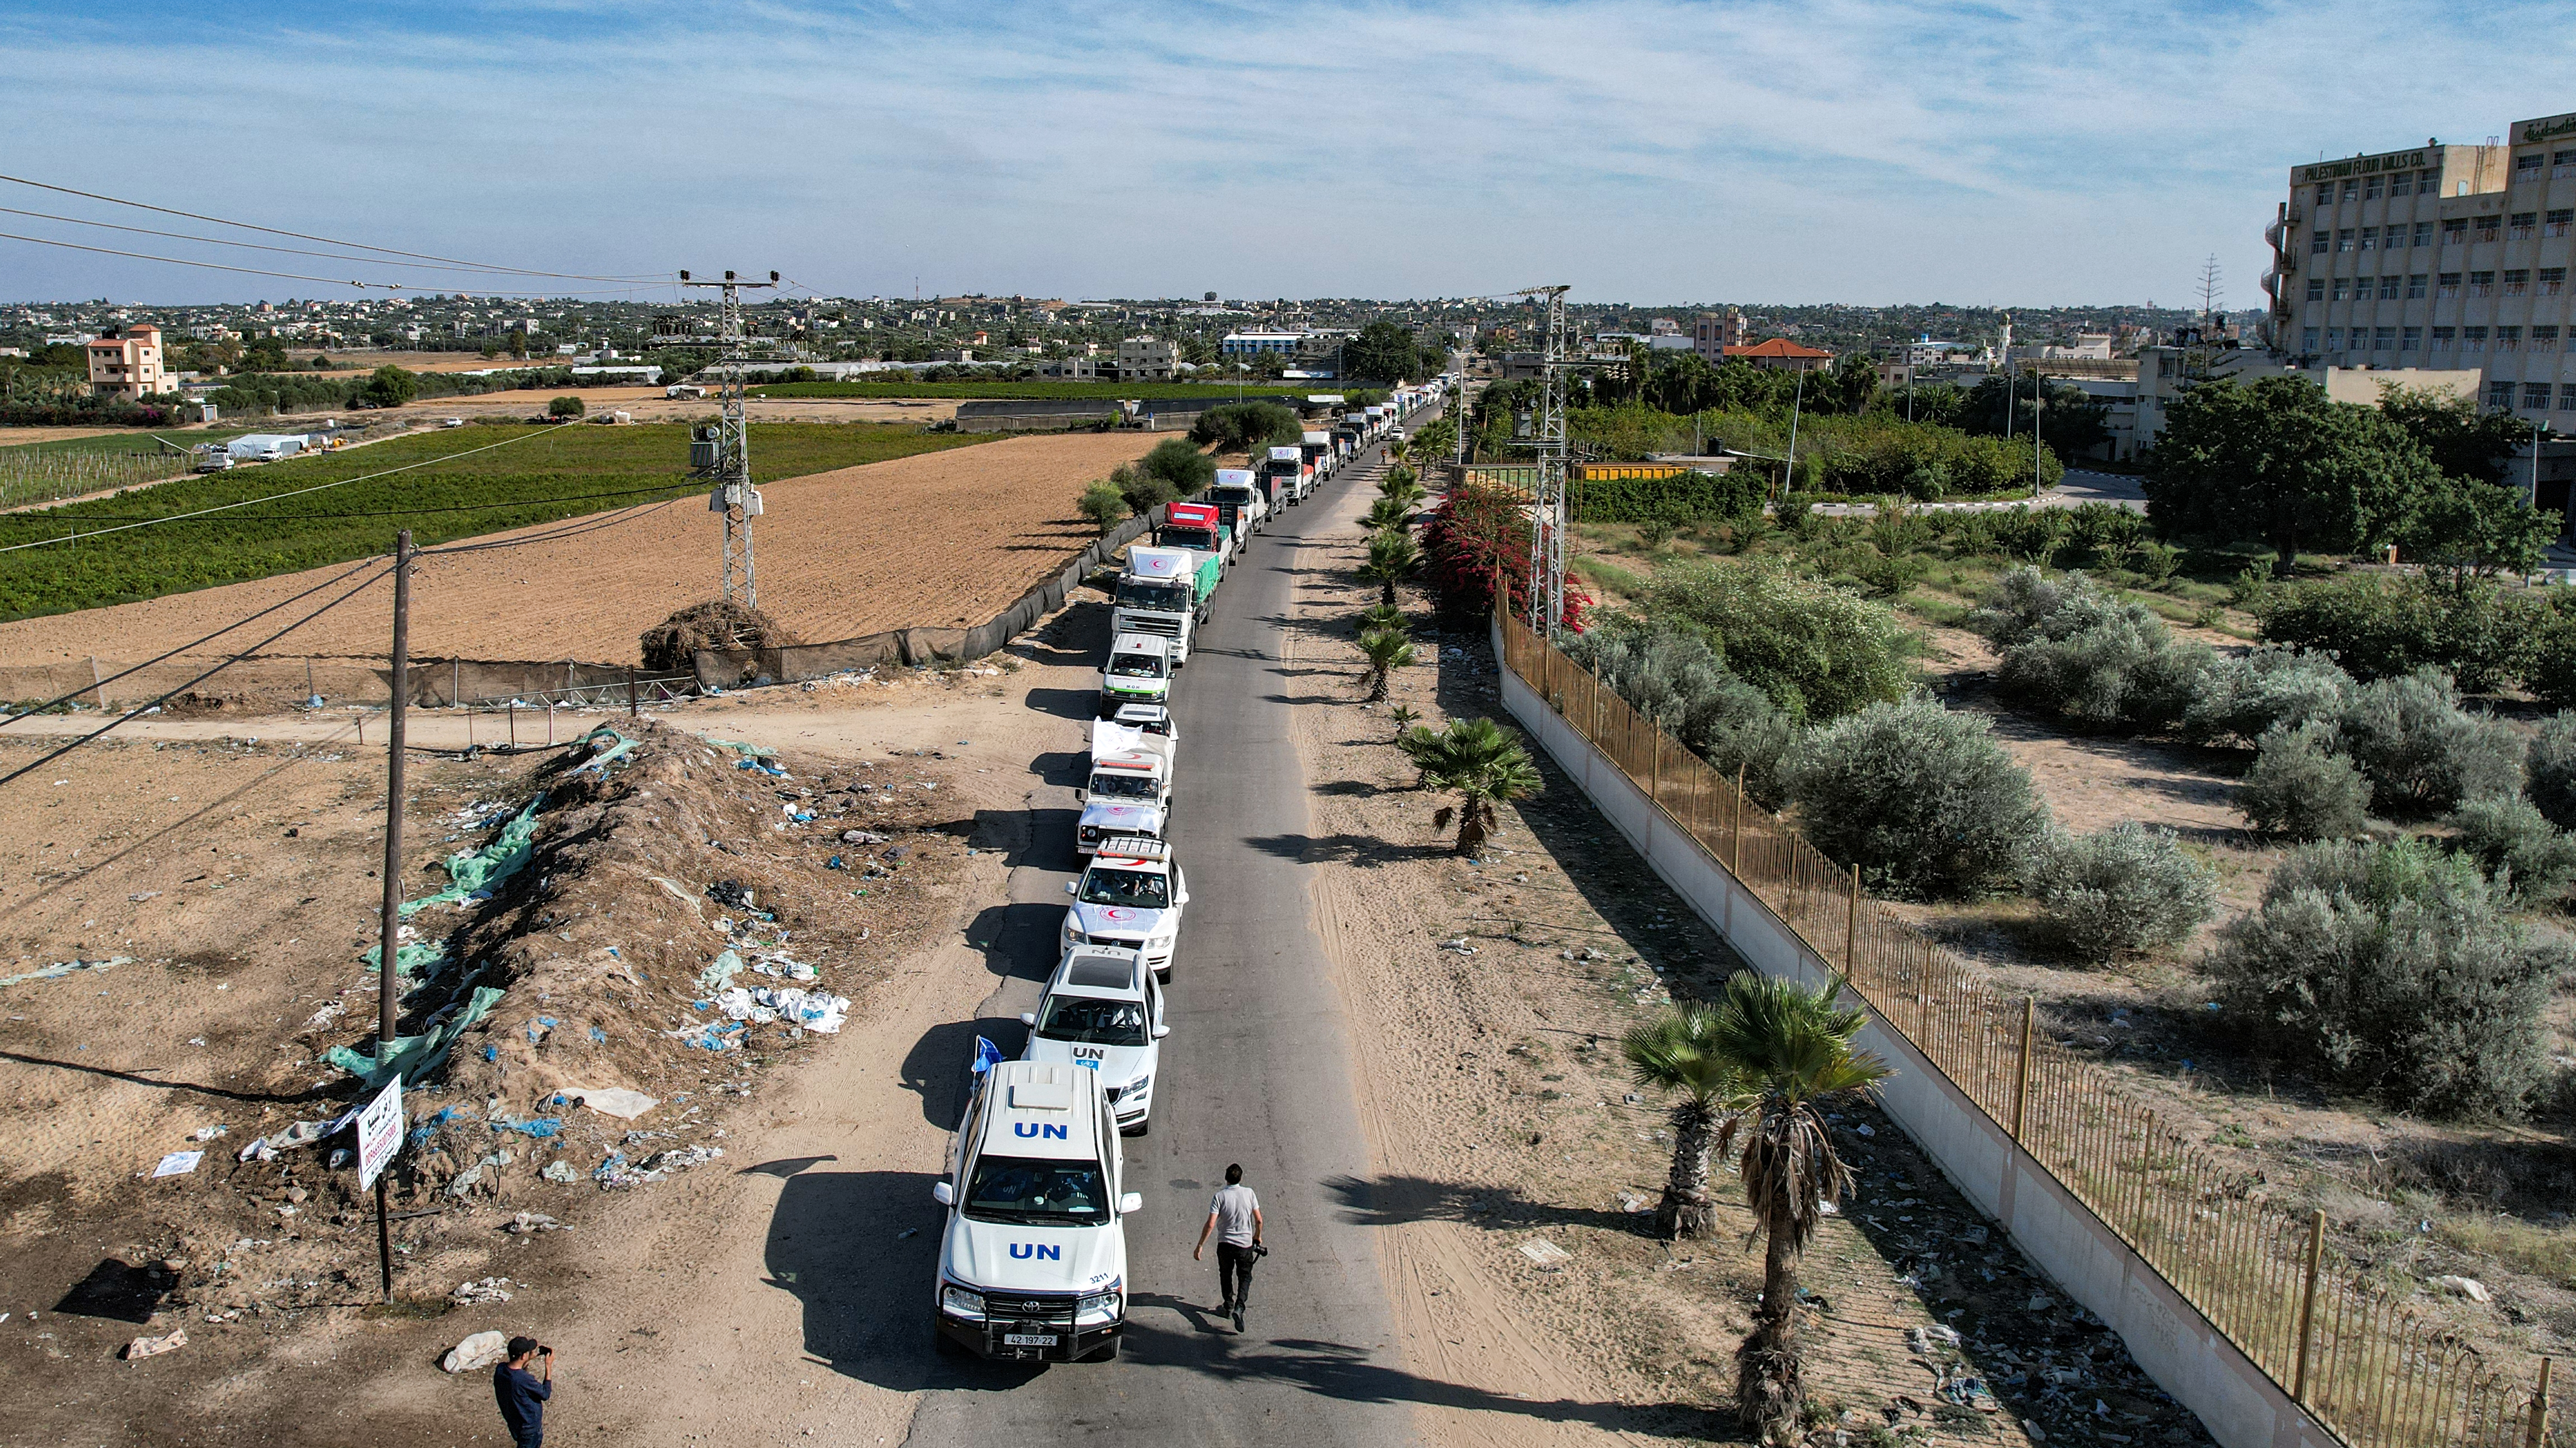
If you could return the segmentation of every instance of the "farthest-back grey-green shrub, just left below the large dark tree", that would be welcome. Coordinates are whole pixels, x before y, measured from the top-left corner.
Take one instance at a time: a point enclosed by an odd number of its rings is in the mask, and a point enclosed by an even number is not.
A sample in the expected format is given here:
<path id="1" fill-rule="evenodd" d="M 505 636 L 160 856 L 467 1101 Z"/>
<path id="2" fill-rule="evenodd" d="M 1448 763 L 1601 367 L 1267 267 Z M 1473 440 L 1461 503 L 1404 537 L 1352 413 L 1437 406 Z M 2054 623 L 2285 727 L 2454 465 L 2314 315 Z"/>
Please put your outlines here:
<path id="1" fill-rule="evenodd" d="M 2048 582 L 2007 572 L 1971 616 L 2004 647 L 1999 683 L 2069 719 L 2164 729 L 2182 719 L 2215 654 L 2174 634 L 2141 603 L 2123 603 L 2081 572 Z"/>

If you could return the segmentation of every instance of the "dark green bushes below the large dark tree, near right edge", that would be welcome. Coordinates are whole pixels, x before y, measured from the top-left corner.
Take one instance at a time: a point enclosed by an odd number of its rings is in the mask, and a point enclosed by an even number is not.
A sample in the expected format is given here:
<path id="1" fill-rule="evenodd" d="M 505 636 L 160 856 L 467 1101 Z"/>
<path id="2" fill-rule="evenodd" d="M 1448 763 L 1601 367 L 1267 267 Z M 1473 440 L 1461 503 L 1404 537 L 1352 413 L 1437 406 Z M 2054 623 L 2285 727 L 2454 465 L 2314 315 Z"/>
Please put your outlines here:
<path id="1" fill-rule="evenodd" d="M 2267 644 L 2331 652 L 2362 680 L 2442 667 L 2473 693 L 2527 672 L 2553 621 L 2540 590 L 2452 590 L 2421 577 L 2391 585 L 2375 575 L 2277 582 L 2259 587 L 2251 605 Z"/>

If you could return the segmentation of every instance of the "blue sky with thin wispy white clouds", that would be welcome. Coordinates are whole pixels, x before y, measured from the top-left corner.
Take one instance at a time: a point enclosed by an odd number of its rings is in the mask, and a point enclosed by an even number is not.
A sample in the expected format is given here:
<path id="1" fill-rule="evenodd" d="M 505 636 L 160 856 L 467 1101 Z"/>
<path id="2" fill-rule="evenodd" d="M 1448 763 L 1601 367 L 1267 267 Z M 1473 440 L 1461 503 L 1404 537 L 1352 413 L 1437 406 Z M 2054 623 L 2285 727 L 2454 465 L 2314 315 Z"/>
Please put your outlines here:
<path id="1" fill-rule="evenodd" d="M 2182 301 L 2218 252 L 2249 307 L 2285 167 L 2576 111 L 2563 0 L 80 10 L 0 0 L 0 173 L 824 294 Z M 0 242 L 0 299 L 322 294 Z"/>

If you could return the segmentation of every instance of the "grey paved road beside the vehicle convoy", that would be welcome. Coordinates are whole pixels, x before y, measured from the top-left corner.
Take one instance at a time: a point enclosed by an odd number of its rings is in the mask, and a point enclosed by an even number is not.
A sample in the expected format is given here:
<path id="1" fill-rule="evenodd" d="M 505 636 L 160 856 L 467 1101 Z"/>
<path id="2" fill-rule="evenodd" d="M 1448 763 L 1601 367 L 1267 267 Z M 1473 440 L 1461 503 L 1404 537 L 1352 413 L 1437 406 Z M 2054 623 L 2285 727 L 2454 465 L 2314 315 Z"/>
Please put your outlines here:
<path id="1" fill-rule="evenodd" d="M 1128 1139 L 1131 1332 L 1118 1363 L 943 1366 L 912 1425 L 920 1445 L 992 1443 L 1414 1443 L 1417 1381 L 1396 1363 L 1386 1288 L 1363 1226 L 1340 1221 L 1324 1183 L 1368 1175 L 1350 1074 L 1350 1031 L 1324 979 L 1298 855 L 1306 778 L 1288 739 L 1301 701 L 1340 696 L 1280 660 L 1298 585 L 1296 541 L 1332 526 L 1337 497 L 1365 490 L 1370 451 L 1316 497 L 1273 518 L 1234 562 L 1175 685 L 1182 729 L 1172 843 L 1190 915 L 1172 976 L 1154 1129 Z M 1066 701 L 1077 706 L 1079 701 Z M 1012 871 L 1002 943 L 1012 979 L 984 1005 L 1005 1049 L 1054 966 L 1072 879 L 1072 770 L 1046 794 L 1038 835 Z M 1043 801 L 1043 796 L 1041 796 Z M 1270 1257 L 1236 1337 L 1211 1309 L 1216 1252 L 1190 1260 L 1208 1196 L 1242 1162 L 1262 1198 Z M 917 1299 L 899 1283 L 889 1301 Z M 930 1353 L 927 1324 L 920 1353 Z"/>

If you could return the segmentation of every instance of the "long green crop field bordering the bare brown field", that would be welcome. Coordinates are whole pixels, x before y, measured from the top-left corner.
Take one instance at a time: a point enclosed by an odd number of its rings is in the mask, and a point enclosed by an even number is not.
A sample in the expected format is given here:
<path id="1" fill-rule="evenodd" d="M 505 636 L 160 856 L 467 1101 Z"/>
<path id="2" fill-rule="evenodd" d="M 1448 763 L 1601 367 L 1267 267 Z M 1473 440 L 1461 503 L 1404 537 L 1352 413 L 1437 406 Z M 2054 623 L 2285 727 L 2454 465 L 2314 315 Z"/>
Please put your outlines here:
<path id="1" fill-rule="evenodd" d="M 510 446 L 456 456 L 502 441 Z M 912 425 L 760 423 L 752 428 L 752 479 L 775 482 L 984 441 L 992 435 L 922 433 Z M 430 459 L 456 461 L 433 461 L 394 477 L 252 502 L 206 518 L 95 538 L 72 536 L 222 502 L 278 497 Z M 67 538 L 41 549 L 0 551 L 0 618 L 131 603 L 384 554 L 392 551 L 397 528 L 412 528 L 412 541 L 430 546 L 703 492 L 706 484 L 685 472 L 683 423 L 477 425 L 242 466 L 62 508 L 0 513 L 0 546 Z"/>

